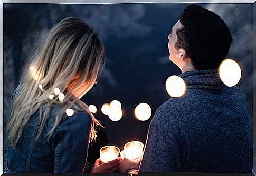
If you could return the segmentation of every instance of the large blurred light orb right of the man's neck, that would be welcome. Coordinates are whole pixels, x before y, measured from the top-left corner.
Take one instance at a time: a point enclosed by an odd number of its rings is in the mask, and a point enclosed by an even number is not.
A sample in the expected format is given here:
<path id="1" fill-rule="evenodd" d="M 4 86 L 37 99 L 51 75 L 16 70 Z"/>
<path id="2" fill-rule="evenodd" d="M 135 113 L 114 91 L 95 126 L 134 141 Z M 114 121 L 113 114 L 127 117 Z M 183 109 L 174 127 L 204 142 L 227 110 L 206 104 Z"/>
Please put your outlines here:
<path id="1" fill-rule="evenodd" d="M 241 79 L 241 67 L 233 59 L 225 59 L 219 67 L 219 75 L 226 86 L 235 86 Z"/>

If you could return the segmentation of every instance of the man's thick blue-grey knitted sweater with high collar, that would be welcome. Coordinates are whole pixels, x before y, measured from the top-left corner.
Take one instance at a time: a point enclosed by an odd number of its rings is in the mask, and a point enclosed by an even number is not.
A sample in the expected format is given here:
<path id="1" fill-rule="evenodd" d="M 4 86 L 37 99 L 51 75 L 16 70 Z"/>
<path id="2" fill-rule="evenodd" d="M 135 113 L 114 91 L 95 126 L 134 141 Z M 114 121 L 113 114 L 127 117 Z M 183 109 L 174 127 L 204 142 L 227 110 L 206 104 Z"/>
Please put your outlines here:
<path id="1" fill-rule="evenodd" d="M 216 70 L 179 76 L 186 94 L 157 109 L 139 172 L 251 172 L 251 122 L 240 89 L 225 86 Z"/>

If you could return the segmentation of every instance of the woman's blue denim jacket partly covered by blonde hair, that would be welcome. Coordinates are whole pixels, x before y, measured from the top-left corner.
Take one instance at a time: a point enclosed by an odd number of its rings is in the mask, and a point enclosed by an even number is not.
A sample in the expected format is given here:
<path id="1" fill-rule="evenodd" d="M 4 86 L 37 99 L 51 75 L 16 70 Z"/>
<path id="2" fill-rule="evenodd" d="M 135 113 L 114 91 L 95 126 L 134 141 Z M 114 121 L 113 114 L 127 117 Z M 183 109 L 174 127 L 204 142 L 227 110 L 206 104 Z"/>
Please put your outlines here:
<path id="1" fill-rule="evenodd" d="M 53 127 L 60 109 L 61 107 L 51 107 L 49 118 L 36 141 L 39 112 L 35 112 L 27 122 L 16 146 L 17 150 L 7 144 L 6 158 L 9 172 L 83 172 L 92 120 L 81 110 L 74 110 L 71 117 L 64 114 L 59 126 L 48 140 L 46 134 Z"/>

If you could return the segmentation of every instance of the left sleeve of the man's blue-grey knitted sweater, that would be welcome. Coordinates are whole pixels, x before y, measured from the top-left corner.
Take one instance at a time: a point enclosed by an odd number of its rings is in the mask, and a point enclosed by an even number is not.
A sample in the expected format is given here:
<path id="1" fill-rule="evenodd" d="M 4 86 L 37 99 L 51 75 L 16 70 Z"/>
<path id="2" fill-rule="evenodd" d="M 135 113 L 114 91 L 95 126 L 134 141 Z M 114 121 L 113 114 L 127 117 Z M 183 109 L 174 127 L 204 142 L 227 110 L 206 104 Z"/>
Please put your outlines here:
<path id="1" fill-rule="evenodd" d="M 181 156 L 175 117 L 159 107 L 149 126 L 139 172 L 181 172 Z"/>

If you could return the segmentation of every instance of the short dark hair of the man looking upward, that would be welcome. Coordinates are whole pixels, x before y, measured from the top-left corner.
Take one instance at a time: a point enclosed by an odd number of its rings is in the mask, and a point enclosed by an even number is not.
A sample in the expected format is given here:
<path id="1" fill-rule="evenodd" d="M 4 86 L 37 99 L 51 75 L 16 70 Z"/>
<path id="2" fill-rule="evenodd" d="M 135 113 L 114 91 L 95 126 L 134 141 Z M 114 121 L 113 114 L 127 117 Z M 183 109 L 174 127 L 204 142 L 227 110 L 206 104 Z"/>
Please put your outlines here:
<path id="1" fill-rule="evenodd" d="M 179 22 L 175 48 L 182 48 L 197 70 L 216 69 L 232 42 L 230 30 L 219 15 L 196 4 L 188 5 Z"/>

